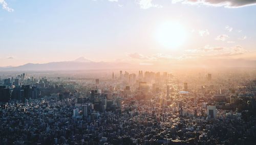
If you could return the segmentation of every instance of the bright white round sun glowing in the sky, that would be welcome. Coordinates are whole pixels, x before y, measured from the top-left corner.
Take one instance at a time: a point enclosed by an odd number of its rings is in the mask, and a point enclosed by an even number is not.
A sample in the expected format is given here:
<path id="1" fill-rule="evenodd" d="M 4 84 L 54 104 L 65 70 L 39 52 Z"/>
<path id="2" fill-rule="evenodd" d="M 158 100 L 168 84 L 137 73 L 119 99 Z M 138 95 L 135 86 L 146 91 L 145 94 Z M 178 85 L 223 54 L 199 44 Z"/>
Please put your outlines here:
<path id="1" fill-rule="evenodd" d="M 168 49 L 176 49 L 184 44 L 187 37 L 185 28 L 178 22 L 168 21 L 157 28 L 157 41 Z"/>

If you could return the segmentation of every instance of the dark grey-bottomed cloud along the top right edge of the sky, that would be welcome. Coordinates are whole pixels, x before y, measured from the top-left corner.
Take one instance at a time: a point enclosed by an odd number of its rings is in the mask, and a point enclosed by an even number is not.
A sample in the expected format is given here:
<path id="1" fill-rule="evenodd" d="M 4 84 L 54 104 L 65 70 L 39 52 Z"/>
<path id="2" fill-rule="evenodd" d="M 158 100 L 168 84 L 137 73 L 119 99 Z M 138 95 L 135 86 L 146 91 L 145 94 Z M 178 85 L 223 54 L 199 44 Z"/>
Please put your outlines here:
<path id="1" fill-rule="evenodd" d="M 240 8 L 256 5 L 256 0 L 172 0 L 172 3 L 181 2 L 182 4 L 207 5 L 225 8 Z"/>

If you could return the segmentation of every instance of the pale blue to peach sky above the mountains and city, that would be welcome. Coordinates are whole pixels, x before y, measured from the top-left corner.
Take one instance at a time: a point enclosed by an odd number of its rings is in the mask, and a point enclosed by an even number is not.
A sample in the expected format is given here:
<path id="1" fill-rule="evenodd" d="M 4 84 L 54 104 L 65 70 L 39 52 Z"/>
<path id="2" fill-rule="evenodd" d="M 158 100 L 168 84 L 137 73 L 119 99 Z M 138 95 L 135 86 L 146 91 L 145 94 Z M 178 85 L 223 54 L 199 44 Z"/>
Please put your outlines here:
<path id="1" fill-rule="evenodd" d="M 0 66 L 79 57 L 256 66 L 256 1 L 0 0 L 0 7 Z"/>

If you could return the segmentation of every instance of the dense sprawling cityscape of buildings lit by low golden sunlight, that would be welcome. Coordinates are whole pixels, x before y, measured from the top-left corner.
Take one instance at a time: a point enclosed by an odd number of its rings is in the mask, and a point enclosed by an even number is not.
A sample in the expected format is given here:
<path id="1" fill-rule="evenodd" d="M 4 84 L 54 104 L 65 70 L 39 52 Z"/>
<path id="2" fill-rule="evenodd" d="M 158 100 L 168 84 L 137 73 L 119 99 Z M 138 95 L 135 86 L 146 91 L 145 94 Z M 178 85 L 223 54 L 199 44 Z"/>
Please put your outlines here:
<path id="1" fill-rule="evenodd" d="M 6 74 L 1 144 L 255 142 L 255 70 Z"/>

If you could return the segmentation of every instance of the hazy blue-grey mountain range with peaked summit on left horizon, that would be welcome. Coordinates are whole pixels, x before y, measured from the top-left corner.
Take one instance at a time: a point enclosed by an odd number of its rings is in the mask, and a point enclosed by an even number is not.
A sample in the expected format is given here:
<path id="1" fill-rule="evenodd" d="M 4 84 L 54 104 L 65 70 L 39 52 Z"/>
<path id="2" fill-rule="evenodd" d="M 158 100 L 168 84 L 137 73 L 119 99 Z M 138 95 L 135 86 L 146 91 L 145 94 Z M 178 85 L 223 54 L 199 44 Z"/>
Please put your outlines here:
<path id="1" fill-rule="evenodd" d="M 74 61 L 49 62 L 42 64 L 27 63 L 15 67 L 0 67 L 0 70 L 86 70 L 86 69 L 118 69 L 130 68 L 129 63 L 122 62 L 93 62 L 89 59 L 80 57 Z"/>

